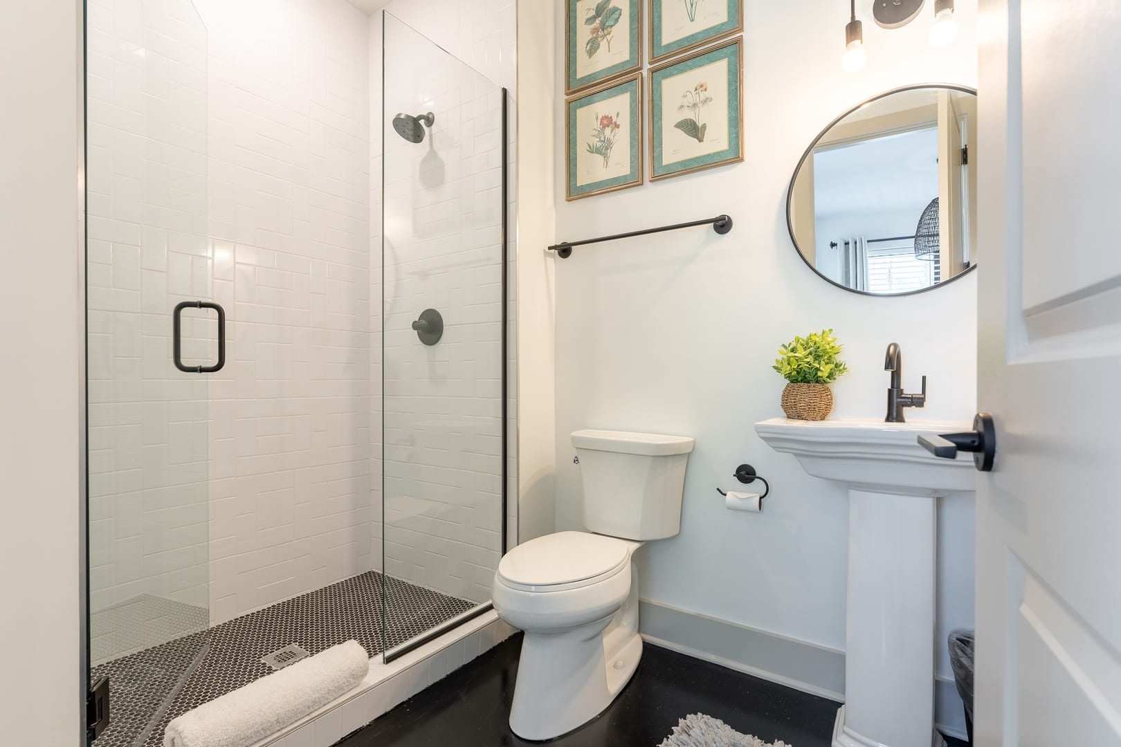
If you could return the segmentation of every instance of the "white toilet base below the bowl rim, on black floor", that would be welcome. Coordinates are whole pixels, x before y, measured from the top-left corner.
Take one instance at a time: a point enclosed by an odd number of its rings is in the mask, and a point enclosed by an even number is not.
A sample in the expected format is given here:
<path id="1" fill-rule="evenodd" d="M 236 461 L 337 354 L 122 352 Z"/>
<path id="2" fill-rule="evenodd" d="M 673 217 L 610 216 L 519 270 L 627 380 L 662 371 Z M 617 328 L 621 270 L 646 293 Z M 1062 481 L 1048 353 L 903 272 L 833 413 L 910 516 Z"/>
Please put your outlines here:
<path id="1" fill-rule="evenodd" d="M 622 608 L 560 633 L 526 631 L 510 729 L 522 739 L 553 739 L 587 723 L 611 704 L 642 657 L 638 571 Z"/>

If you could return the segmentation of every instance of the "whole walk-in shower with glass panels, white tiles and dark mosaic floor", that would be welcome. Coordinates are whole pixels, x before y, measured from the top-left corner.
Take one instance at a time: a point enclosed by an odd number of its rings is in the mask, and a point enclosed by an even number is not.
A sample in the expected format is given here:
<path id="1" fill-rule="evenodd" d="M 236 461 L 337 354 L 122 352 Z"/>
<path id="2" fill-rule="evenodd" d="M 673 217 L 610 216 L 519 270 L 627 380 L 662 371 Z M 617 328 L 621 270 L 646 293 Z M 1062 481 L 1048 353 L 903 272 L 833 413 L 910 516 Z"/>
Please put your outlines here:
<path id="1" fill-rule="evenodd" d="M 99 747 L 350 638 L 391 661 L 489 608 L 512 534 L 506 91 L 391 15 L 290 55 L 249 4 L 87 7 Z"/>

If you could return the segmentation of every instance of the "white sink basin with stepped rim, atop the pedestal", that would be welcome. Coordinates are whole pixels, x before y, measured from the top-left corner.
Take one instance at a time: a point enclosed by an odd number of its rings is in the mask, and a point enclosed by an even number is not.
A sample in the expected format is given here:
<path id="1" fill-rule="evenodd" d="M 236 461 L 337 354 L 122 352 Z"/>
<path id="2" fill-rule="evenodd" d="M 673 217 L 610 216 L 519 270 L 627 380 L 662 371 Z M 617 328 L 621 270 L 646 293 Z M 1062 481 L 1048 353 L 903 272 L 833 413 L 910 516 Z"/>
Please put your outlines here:
<path id="1" fill-rule="evenodd" d="M 939 459 L 918 445 L 919 433 L 972 430 L 967 421 L 789 420 L 756 423 L 776 451 L 793 454 L 814 477 L 851 489 L 892 495 L 936 496 L 975 489 L 973 457 Z"/>

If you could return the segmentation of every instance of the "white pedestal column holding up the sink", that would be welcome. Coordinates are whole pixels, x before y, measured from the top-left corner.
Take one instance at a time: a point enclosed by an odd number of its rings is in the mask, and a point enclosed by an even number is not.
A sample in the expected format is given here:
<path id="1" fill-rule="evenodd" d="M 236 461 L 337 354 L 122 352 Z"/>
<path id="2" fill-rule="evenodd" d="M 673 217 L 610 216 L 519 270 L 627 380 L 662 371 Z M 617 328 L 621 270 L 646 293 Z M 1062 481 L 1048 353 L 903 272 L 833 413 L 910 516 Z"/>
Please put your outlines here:
<path id="1" fill-rule="evenodd" d="M 930 747 L 936 498 L 849 491 L 845 706 L 833 747 Z"/>

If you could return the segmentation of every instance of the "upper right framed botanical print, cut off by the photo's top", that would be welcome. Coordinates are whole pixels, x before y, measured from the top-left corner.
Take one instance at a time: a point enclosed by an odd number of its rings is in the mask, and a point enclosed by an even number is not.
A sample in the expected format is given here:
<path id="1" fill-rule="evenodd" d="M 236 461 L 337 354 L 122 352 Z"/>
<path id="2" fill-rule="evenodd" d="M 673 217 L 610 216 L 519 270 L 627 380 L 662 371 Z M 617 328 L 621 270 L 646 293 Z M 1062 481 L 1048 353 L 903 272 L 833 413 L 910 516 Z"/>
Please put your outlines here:
<path id="1" fill-rule="evenodd" d="M 743 0 L 650 0 L 650 62 L 743 30 Z"/>

